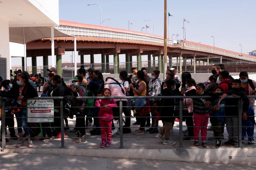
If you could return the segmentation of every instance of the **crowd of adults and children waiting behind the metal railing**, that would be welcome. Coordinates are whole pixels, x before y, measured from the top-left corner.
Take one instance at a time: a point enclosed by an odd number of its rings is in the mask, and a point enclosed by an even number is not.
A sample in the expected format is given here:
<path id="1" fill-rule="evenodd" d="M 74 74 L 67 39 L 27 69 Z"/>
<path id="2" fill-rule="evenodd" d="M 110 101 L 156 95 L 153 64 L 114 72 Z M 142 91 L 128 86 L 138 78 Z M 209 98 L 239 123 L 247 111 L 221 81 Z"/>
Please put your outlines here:
<path id="1" fill-rule="evenodd" d="M 113 120 L 119 120 L 119 107 L 125 115 L 123 133 L 132 133 L 131 117 L 136 118 L 133 125 L 140 126 L 133 131 L 135 135 L 142 135 L 145 132 L 155 133 L 156 137 L 166 145 L 174 145 L 171 140 L 175 121 L 179 121 L 180 108 L 179 101 L 182 100 L 183 120 L 186 122 L 187 130 L 184 130 L 184 141 L 194 141 L 195 146 L 199 146 L 199 133 L 201 131 L 201 145 L 207 147 L 206 136 L 208 120 L 210 118 L 214 136 L 208 138 L 216 141 L 216 147 L 221 147 L 224 139 L 224 127 L 228 132 L 228 141 L 224 142 L 230 146 L 238 146 L 238 123 L 239 116 L 242 117 L 242 140 L 248 137 L 248 144 L 254 144 L 254 103 L 255 98 L 249 95 L 256 94 L 256 82 L 249 79 L 248 73 L 242 71 L 239 79 L 234 79 L 225 70 L 223 64 L 212 66 L 212 75 L 202 83 L 196 83 L 187 71 L 183 72 L 181 78 L 176 69 L 166 71 L 166 79 L 161 82 L 159 70 L 153 70 L 148 76 L 147 69 L 132 68 L 133 74 L 128 75 L 127 71 L 121 71 L 120 81 L 113 77 L 107 77 L 104 81 L 99 70 L 89 68 L 87 70 L 81 66 L 77 75 L 72 79 L 72 83 L 66 85 L 54 67 L 48 69 L 46 78 L 41 74 L 29 75 L 26 71 L 18 70 L 14 74 L 11 72 L 11 80 L 2 80 L 1 97 L 7 97 L 6 106 L 6 127 L 9 128 L 11 139 L 19 139 L 16 147 L 21 147 L 23 138 L 27 138 L 27 146 L 33 147 L 31 137 L 31 126 L 26 122 L 26 99 L 37 97 L 37 87 L 40 91 L 42 86 L 43 96 L 64 97 L 64 105 L 73 106 L 75 109 L 67 109 L 64 113 L 66 130 L 68 127 L 67 118 L 75 115 L 76 124 L 70 132 L 75 132 L 76 143 L 81 143 L 86 136 L 86 128 L 89 123 L 94 123 L 95 128 L 90 131 L 90 135 L 101 135 L 100 147 L 110 147 L 111 137 L 119 133 L 115 128 Z M 34 78 L 34 79 L 33 79 Z M 80 99 L 77 97 L 99 96 L 99 97 L 119 97 L 119 99 Z M 161 99 L 126 99 L 126 96 L 169 96 Z M 174 96 L 174 97 L 172 97 Z M 184 99 L 175 96 L 186 96 Z M 201 96 L 202 98 L 187 98 L 188 96 Z M 211 96 L 211 98 L 204 98 Z M 233 96 L 233 98 L 226 98 Z M 240 96 L 240 98 L 237 98 Z M 121 97 L 121 99 L 120 99 Z M 239 115 L 238 101 L 241 100 L 242 115 Z M 45 138 L 52 140 L 61 137 L 61 100 L 54 100 L 54 122 L 40 123 L 41 141 Z M 122 105 L 120 105 L 122 103 Z M 147 107 L 145 107 L 147 106 Z M 71 108 L 71 107 L 70 107 Z M 66 110 L 66 109 L 65 109 Z M 18 136 L 14 130 L 14 115 L 17 120 Z M 88 117 L 88 118 L 87 118 Z M 151 120 L 150 120 L 151 118 Z M 159 128 L 158 123 L 162 121 L 163 127 Z M 120 123 L 119 123 L 120 125 Z M 25 134 L 22 132 L 22 127 Z M 50 128 L 55 127 L 55 128 Z M 147 128 L 147 129 L 146 129 Z M 2 130 L 1 130 L 2 132 Z M 65 133 L 64 133 L 65 136 Z M 6 141 L 8 139 L 6 138 Z"/>

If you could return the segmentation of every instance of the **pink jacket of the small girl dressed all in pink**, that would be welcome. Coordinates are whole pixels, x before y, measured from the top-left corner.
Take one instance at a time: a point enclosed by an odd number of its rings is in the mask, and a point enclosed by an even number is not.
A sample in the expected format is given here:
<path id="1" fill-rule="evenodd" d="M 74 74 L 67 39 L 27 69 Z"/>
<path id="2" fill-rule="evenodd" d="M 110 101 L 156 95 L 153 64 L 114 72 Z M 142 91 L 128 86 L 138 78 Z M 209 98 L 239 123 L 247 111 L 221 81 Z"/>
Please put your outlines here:
<path id="1" fill-rule="evenodd" d="M 104 108 L 104 105 L 108 105 L 108 108 Z M 99 117 L 106 117 L 106 118 L 99 118 L 101 120 L 112 120 L 113 119 L 113 112 L 112 108 L 117 107 L 116 102 L 114 99 L 100 99 L 96 100 L 95 107 L 101 107 L 98 116 Z"/>

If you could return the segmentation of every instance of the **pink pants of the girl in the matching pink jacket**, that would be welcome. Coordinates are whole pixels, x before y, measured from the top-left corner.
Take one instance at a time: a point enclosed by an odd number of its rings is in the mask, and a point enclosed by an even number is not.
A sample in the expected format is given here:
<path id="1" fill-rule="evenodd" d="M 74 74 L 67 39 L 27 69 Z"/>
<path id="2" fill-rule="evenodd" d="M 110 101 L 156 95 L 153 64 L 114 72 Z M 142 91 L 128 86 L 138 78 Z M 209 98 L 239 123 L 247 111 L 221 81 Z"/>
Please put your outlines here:
<path id="1" fill-rule="evenodd" d="M 112 137 L 112 121 L 105 121 L 105 120 L 99 120 L 100 121 L 100 127 L 105 127 L 105 128 L 100 128 L 101 130 L 101 141 L 106 142 L 106 141 L 111 141 Z M 107 127 L 107 128 L 106 128 Z"/>

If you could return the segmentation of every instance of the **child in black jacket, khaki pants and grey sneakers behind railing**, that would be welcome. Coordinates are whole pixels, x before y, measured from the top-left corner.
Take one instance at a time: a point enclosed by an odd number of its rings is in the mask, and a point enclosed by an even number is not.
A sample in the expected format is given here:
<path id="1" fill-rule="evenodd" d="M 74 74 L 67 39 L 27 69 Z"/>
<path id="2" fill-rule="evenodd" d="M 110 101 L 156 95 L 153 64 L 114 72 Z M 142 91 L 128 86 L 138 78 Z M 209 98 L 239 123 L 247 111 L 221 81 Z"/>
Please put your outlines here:
<path id="1" fill-rule="evenodd" d="M 164 82 L 164 89 L 162 91 L 162 96 L 175 96 L 174 90 L 176 89 L 176 84 L 173 79 L 169 79 Z M 161 99 L 160 106 L 169 106 L 169 107 L 160 107 L 160 117 L 163 121 L 164 127 L 156 135 L 156 137 L 163 141 L 165 145 L 174 145 L 176 142 L 170 140 L 170 134 L 172 130 L 172 122 L 174 120 L 174 106 L 175 99 Z M 172 117 L 168 117 L 172 116 Z M 163 137 L 164 135 L 164 137 Z"/>

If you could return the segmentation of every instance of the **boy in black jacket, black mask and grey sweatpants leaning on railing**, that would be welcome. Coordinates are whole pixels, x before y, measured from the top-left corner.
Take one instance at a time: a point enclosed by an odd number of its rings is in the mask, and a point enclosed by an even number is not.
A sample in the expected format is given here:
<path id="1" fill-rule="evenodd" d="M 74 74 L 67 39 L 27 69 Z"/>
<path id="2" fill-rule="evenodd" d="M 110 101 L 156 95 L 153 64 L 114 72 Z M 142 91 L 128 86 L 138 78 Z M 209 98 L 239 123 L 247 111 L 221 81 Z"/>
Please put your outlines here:
<path id="1" fill-rule="evenodd" d="M 225 113 L 226 113 L 226 126 L 228 131 L 228 141 L 224 144 L 230 146 L 238 146 L 238 116 L 246 117 L 246 112 L 248 111 L 249 107 L 249 99 L 245 93 L 245 89 L 241 87 L 241 81 L 235 79 L 232 81 L 232 90 L 227 91 L 226 94 L 220 98 L 217 106 L 219 106 L 220 101 L 224 99 L 226 96 L 234 96 L 233 99 L 226 99 L 225 101 Z M 239 110 L 237 107 L 232 107 L 238 104 L 239 99 L 236 98 L 240 96 L 243 104 L 242 104 L 242 115 L 239 115 Z"/>

